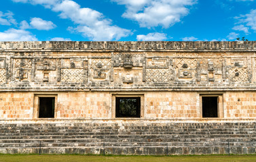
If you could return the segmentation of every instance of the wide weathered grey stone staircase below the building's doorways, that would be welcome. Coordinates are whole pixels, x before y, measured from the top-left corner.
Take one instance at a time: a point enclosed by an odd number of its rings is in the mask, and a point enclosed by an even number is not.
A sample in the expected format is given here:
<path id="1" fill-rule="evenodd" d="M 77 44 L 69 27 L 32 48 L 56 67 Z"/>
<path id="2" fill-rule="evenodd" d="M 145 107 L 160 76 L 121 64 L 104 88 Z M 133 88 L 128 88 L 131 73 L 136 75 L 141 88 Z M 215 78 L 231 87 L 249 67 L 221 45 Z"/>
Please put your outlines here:
<path id="1" fill-rule="evenodd" d="M 255 154 L 255 148 L 256 122 L 79 121 L 0 129 L 0 153 L 10 154 Z"/>

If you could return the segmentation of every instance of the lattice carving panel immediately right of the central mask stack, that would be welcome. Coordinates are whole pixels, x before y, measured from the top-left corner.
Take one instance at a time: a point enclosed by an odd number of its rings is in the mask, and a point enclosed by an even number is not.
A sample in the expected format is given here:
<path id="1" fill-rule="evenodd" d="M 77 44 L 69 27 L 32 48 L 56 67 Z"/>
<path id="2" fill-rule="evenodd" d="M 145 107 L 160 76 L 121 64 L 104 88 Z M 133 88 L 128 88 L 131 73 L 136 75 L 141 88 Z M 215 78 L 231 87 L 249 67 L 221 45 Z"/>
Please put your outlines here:
<path id="1" fill-rule="evenodd" d="M 172 70 L 169 69 L 147 69 L 146 81 L 147 82 L 161 82 L 166 83 L 173 80 Z"/>

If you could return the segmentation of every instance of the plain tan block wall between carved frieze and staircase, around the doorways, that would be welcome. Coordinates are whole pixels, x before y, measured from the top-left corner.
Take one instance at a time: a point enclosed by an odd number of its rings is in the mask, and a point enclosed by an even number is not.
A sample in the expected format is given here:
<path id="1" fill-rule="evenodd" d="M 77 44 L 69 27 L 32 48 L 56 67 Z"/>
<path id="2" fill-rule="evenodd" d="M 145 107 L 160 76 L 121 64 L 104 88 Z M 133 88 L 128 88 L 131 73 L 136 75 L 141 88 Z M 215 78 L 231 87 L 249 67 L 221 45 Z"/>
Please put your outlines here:
<path id="1" fill-rule="evenodd" d="M 127 92 L 1 92 L 1 119 L 40 119 L 36 97 L 45 94 L 57 98 L 54 119 L 115 119 L 113 96 Z M 144 99 L 141 119 L 205 120 L 201 116 L 200 92 L 139 94 Z M 255 95 L 255 92 L 224 92 L 222 115 L 214 119 L 255 119 Z"/>

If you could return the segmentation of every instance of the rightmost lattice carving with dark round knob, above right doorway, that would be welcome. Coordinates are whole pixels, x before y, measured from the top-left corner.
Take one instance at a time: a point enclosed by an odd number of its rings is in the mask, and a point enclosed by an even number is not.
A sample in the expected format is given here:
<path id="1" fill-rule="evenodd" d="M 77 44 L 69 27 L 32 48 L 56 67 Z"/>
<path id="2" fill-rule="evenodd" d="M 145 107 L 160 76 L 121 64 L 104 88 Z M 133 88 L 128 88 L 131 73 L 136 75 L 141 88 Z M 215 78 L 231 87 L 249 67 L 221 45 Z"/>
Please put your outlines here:
<path id="1" fill-rule="evenodd" d="M 230 68 L 227 70 L 227 81 L 247 82 L 248 74 L 246 68 Z"/>

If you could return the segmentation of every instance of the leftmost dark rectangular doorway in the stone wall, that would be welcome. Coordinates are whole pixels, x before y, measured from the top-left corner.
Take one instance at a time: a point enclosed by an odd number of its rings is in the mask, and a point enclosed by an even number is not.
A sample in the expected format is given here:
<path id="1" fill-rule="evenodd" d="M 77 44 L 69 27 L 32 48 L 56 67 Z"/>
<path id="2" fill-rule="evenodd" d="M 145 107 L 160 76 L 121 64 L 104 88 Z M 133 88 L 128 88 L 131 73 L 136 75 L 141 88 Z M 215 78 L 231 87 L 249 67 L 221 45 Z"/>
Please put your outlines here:
<path id="1" fill-rule="evenodd" d="M 39 117 L 54 117 L 55 97 L 39 97 Z"/>

